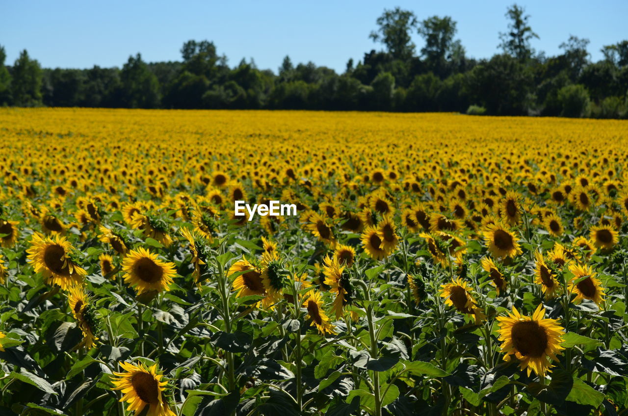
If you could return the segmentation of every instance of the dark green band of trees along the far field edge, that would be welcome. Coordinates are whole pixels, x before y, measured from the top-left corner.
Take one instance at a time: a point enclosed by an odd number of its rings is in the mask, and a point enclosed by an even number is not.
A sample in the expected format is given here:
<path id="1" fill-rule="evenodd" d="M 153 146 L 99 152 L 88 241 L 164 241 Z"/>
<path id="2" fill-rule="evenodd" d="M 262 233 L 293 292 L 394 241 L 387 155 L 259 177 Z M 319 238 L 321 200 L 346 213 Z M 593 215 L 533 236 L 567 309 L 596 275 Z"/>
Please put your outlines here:
<path id="1" fill-rule="evenodd" d="M 445 16 L 420 20 L 394 8 L 377 18 L 371 50 L 343 74 L 285 57 L 275 73 L 242 60 L 227 64 L 211 41 L 187 41 L 180 62 L 144 62 L 138 53 L 122 68 L 41 68 L 23 50 L 5 65 L 0 47 L 0 105 L 180 109 L 325 109 L 457 111 L 468 114 L 626 118 L 628 40 L 602 49 L 591 62 L 587 39 L 569 36 L 547 57 L 530 41 L 530 16 L 507 8 L 502 53 L 468 58 Z M 418 33 L 420 50 L 411 36 Z"/>

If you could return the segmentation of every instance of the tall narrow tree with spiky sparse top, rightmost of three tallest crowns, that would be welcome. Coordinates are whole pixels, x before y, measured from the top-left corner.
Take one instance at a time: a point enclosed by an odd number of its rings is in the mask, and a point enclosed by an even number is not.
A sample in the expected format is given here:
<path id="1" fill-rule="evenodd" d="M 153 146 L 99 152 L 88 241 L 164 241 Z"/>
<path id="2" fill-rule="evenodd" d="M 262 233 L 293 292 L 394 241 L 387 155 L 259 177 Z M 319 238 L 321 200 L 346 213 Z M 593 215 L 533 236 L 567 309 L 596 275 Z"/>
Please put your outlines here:
<path id="1" fill-rule="evenodd" d="M 505 53 L 516 57 L 520 62 L 526 62 L 532 57 L 534 49 L 530 46 L 532 38 L 539 39 L 539 35 L 534 33 L 528 25 L 529 14 L 524 16 L 525 9 L 512 4 L 507 11 L 506 17 L 511 20 L 507 33 L 499 33 L 502 43 L 499 45 Z"/>

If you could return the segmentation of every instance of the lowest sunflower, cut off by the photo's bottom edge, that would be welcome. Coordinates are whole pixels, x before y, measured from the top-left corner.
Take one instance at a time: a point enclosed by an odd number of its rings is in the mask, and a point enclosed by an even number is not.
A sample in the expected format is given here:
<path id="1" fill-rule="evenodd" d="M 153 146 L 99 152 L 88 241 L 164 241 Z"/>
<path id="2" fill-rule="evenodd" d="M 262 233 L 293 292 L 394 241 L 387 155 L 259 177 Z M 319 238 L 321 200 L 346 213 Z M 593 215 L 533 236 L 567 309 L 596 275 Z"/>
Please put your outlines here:
<path id="1" fill-rule="evenodd" d="M 163 375 L 157 374 L 157 364 L 146 368 L 144 364 L 119 363 L 123 372 L 114 372 L 117 378 L 111 382 L 111 390 L 122 390 L 121 402 L 129 403 L 127 411 L 139 415 L 148 406 L 146 416 L 176 416 L 162 397 L 168 381 L 161 381 Z"/>

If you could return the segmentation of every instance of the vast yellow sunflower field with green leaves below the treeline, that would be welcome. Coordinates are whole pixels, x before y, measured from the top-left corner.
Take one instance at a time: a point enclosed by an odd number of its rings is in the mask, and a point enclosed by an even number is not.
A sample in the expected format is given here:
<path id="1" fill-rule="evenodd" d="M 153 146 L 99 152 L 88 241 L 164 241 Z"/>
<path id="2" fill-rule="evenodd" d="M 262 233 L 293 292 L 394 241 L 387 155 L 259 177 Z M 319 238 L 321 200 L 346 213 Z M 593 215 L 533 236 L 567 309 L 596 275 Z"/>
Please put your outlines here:
<path id="1" fill-rule="evenodd" d="M 627 415 L 627 161 L 625 121 L 0 109 L 0 416 Z"/>

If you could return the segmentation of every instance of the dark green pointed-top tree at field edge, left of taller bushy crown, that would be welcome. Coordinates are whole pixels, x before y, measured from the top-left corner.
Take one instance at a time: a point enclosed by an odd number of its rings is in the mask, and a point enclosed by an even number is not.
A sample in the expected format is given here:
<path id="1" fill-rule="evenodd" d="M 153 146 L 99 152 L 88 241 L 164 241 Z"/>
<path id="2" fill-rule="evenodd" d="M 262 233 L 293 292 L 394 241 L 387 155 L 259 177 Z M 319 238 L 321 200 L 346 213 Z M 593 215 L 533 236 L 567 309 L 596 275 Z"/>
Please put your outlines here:
<path id="1" fill-rule="evenodd" d="M 130 56 L 120 73 L 122 102 L 131 108 L 156 108 L 160 104 L 160 87 L 157 77 L 150 72 L 138 53 Z"/>

